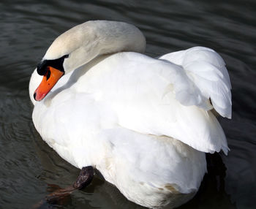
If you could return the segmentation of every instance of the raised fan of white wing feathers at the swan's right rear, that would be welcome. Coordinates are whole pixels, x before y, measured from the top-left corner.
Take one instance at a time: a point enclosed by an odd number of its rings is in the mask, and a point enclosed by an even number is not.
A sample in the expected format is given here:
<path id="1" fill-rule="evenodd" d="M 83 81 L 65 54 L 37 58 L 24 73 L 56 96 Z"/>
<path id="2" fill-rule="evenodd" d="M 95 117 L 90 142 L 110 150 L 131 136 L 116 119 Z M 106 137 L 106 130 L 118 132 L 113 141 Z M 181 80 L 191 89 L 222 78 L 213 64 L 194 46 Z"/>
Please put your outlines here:
<path id="1" fill-rule="evenodd" d="M 160 59 L 181 65 L 192 82 L 187 86 L 187 93 L 181 91 L 184 90 L 184 84 L 177 83 L 176 98 L 181 104 L 206 108 L 206 100 L 211 98 L 219 115 L 231 118 L 230 77 L 219 54 L 206 47 L 192 47 L 189 50 L 167 54 Z"/>

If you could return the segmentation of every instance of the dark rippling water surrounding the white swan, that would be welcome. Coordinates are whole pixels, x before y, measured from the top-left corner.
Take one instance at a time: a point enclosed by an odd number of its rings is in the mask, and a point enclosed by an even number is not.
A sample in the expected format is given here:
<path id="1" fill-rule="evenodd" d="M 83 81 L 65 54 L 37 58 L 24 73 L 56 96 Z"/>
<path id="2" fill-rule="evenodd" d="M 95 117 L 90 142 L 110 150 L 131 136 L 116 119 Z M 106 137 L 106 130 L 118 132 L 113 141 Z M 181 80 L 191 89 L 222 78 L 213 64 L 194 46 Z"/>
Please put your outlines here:
<path id="1" fill-rule="evenodd" d="M 3 1 L 0 2 L 0 208 L 30 208 L 49 184 L 69 186 L 79 170 L 34 129 L 28 85 L 53 39 L 86 20 L 138 26 L 146 53 L 159 56 L 202 45 L 225 59 L 233 86 L 233 118 L 220 119 L 230 153 L 209 168 L 195 199 L 181 208 L 255 208 L 256 1 Z M 226 170 L 225 170 L 226 167 Z M 61 206 L 42 205 L 41 208 Z M 64 208 L 142 208 L 95 178 Z"/>

